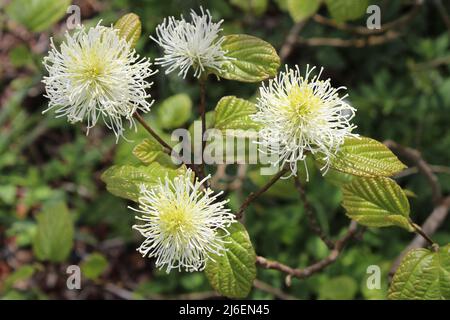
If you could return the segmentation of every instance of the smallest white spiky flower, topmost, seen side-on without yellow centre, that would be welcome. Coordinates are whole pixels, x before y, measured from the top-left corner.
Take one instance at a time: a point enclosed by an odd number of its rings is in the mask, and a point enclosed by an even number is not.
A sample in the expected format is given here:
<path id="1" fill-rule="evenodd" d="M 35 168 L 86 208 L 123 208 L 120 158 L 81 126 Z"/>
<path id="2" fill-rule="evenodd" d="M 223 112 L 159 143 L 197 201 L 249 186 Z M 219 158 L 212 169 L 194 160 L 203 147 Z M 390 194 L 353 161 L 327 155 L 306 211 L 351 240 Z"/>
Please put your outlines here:
<path id="1" fill-rule="evenodd" d="M 214 23 L 208 10 L 200 10 L 200 15 L 191 10 L 191 22 L 183 16 L 180 20 L 165 18 L 156 28 L 157 38 L 150 37 L 164 50 L 156 64 L 166 67 L 166 73 L 180 69 L 178 75 L 185 78 L 192 67 L 194 76 L 200 77 L 207 68 L 221 71 L 222 64 L 230 59 L 221 47 L 224 37 L 219 36 L 223 20 Z"/>

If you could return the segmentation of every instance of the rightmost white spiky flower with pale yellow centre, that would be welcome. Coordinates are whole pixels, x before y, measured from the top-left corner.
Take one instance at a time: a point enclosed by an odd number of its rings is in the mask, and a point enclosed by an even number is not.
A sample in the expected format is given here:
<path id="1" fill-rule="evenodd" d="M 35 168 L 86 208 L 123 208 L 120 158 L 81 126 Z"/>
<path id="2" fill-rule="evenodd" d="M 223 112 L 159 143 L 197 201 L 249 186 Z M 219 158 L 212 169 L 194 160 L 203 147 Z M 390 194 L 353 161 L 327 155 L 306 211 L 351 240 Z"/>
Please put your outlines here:
<path id="1" fill-rule="evenodd" d="M 277 154 L 273 164 L 289 164 L 294 175 L 297 162 L 305 161 L 308 152 L 324 157 L 326 171 L 344 139 L 356 136 L 351 133 L 356 110 L 345 102 L 347 95 L 339 95 L 346 88 L 333 88 L 330 79 L 320 80 L 323 69 L 312 75 L 314 69 L 308 65 L 303 77 L 298 66 L 286 66 L 285 72 L 262 85 L 252 116 L 262 124 L 257 141 L 261 149 Z"/>

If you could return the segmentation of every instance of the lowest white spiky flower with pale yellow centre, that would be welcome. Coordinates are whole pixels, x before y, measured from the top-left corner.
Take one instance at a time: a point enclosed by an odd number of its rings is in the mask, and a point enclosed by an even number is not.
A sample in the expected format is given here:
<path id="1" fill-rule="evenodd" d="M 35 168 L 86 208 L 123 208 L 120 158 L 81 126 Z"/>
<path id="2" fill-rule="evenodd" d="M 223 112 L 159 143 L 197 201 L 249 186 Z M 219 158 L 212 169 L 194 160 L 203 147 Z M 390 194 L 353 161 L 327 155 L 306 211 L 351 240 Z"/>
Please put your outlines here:
<path id="1" fill-rule="evenodd" d="M 156 266 L 186 271 L 201 271 L 211 253 L 223 254 L 224 239 L 218 234 L 235 221 L 234 214 L 217 201 L 221 193 L 201 189 L 202 181 L 192 182 L 192 171 L 165 181 L 151 189 L 141 187 L 134 225 L 146 239 L 137 249 L 143 257 L 156 257 Z M 227 234 L 227 232 L 226 232 Z"/>

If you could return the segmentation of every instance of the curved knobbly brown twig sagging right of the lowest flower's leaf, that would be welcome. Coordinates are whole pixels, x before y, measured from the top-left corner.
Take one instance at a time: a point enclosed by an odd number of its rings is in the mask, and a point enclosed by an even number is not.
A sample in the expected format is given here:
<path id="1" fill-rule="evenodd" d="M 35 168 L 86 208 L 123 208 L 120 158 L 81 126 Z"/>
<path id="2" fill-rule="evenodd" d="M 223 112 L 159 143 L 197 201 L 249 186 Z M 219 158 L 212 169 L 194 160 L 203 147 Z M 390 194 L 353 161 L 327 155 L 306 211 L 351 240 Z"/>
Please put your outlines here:
<path id="1" fill-rule="evenodd" d="M 355 221 L 352 221 L 350 223 L 347 233 L 338 241 L 336 241 L 335 246 L 333 250 L 331 250 L 330 254 L 325 259 L 322 259 L 314 264 L 311 264 L 306 268 L 303 269 L 292 268 L 281 262 L 270 261 L 261 256 L 256 257 L 256 263 L 266 269 L 279 270 L 283 273 L 286 273 L 290 277 L 295 277 L 299 279 L 307 278 L 323 270 L 324 268 L 326 268 L 327 266 L 329 266 L 330 264 L 334 263 L 337 260 L 339 254 L 342 252 L 345 245 L 350 241 L 350 239 L 356 236 L 358 230 L 357 227 L 358 224 Z"/>

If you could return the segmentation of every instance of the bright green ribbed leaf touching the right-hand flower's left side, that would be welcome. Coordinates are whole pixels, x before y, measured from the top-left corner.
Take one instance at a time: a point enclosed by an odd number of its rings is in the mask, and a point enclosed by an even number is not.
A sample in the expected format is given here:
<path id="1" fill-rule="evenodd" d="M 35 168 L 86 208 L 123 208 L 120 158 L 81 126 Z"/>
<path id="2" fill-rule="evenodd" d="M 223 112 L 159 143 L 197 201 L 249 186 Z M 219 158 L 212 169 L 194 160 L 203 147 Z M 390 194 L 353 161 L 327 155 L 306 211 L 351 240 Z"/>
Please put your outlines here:
<path id="1" fill-rule="evenodd" d="M 250 115 L 256 112 L 255 104 L 227 96 L 220 99 L 215 110 L 215 128 L 226 129 L 259 129 L 259 124 L 250 119 Z"/>

